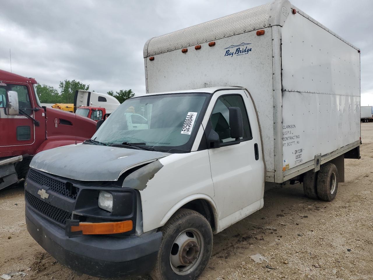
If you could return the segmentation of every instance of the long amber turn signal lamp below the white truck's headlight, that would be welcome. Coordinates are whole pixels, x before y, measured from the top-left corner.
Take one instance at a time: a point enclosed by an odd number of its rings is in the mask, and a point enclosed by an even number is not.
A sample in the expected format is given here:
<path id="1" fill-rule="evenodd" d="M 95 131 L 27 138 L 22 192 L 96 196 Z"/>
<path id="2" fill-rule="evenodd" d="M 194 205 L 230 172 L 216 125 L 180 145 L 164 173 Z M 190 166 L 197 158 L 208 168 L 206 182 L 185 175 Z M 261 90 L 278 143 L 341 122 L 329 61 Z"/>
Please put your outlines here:
<path id="1" fill-rule="evenodd" d="M 82 234 L 113 234 L 131 231 L 132 221 L 109 222 L 109 223 L 79 223 L 72 225 L 71 232 L 82 231 Z"/>

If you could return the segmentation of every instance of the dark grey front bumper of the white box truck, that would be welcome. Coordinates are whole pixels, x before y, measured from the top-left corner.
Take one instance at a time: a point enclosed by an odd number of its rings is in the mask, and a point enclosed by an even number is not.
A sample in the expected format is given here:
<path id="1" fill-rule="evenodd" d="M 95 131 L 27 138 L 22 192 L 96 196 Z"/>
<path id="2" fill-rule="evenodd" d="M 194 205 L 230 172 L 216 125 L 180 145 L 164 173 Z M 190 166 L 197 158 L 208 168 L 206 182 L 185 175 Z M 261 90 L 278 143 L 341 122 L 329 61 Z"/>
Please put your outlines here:
<path id="1" fill-rule="evenodd" d="M 162 240 L 161 232 L 141 237 L 91 235 L 69 239 L 62 228 L 27 205 L 25 216 L 31 236 L 60 264 L 96 277 L 129 277 L 149 272 Z"/>

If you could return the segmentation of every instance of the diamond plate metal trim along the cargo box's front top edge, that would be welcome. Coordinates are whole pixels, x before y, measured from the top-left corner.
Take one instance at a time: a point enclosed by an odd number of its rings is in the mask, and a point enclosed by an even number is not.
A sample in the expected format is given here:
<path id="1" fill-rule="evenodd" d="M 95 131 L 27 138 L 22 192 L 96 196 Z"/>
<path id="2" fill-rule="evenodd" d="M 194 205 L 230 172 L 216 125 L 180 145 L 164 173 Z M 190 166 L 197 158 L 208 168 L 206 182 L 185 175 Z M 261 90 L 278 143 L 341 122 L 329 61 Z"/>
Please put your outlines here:
<path id="1" fill-rule="evenodd" d="M 144 57 L 268 27 L 273 3 L 154 37 L 144 46 Z"/>

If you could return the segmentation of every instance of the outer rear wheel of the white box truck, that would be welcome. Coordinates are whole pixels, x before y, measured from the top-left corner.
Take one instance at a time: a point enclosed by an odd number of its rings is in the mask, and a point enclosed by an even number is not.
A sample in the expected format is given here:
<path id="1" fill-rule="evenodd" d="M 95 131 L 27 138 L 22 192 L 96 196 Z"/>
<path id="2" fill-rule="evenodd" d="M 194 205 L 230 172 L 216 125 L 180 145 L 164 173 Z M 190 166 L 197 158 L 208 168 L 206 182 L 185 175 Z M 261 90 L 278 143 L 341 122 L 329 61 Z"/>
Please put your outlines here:
<path id="1" fill-rule="evenodd" d="M 316 186 L 321 200 L 332 201 L 335 198 L 338 190 L 338 169 L 334 164 L 321 165 Z"/>

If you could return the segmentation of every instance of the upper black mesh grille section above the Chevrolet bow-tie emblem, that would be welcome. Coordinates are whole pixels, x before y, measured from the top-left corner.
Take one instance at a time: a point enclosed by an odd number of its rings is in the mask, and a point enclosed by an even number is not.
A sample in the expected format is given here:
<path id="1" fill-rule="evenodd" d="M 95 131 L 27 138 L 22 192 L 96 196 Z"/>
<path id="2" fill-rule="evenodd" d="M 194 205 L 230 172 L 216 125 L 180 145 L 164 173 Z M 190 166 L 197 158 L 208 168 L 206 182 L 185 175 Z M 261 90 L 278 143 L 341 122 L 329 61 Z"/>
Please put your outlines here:
<path id="1" fill-rule="evenodd" d="M 51 191 L 69 197 L 71 199 L 76 199 L 76 195 L 78 195 L 79 192 L 79 188 L 72 186 L 71 183 L 64 183 L 59 180 L 50 178 L 34 169 L 30 169 L 27 178 L 40 186 L 46 186 L 50 188 Z M 66 187 L 66 184 L 69 184 L 69 186 Z"/>

